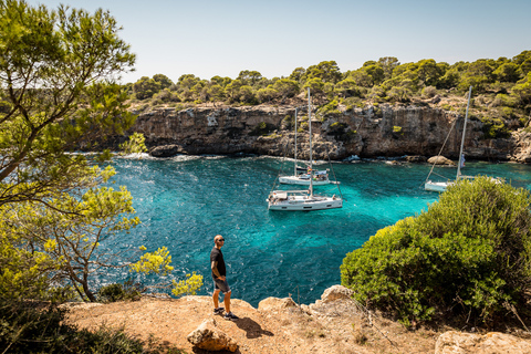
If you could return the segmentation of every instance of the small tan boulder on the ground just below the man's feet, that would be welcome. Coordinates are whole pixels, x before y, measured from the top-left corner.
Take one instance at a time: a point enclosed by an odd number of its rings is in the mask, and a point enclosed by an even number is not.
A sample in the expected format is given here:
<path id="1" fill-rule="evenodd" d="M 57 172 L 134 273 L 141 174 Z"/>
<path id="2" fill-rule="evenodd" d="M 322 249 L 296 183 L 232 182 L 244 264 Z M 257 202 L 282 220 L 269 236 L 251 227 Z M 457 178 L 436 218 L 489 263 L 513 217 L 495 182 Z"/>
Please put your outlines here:
<path id="1" fill-rule="evenodd" d="M 206 351 L 236 352 L 238 350 L 238 343 L 218 330 L 214 319 L 202 321 L 186 339 L 195 346 Z"/>

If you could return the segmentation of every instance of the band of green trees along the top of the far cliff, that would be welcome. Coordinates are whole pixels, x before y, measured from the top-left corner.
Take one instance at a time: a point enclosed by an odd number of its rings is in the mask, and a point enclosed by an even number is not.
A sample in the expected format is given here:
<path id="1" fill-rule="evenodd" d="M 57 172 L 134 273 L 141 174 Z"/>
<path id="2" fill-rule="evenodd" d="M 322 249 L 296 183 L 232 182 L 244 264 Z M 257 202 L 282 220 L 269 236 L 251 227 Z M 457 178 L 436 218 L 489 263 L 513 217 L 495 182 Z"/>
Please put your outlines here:
<path id="1" fill-rule="evenodd" d="M 366 104 L 426 104 L 437 102 L 436 96 L 462 97 L 472 85 L 473 116 L 483 121 L 489 138 L 507 135 L 507 126 L 513 126 L 507 121 L 520 121 L 519 126 L 529 123 L 530 72 L 531 51 L 523 51 L 512 59 L 455 64 L 437 63 L 433 59 L 400 64 L 398 59 L 386 56 L 346 72 L 342 72 L 335 61 L 325 61 L 306 69 L 296 67 L 288 77 L 273 79 L 244 70 L 236 79 L 204 80 L 186 74 L 174 83 L 166 75 L 157 74 L 152 79 L 144 76 L 127 87 L 133 103 L 140 108 L 157 105 L 179 108 L 201 103 L 283 104 L 311 87 L 320 105 L 342 104 L 348 110 Z M 462 104 L 441 103 L 441 107 L 459 111 Z"/>

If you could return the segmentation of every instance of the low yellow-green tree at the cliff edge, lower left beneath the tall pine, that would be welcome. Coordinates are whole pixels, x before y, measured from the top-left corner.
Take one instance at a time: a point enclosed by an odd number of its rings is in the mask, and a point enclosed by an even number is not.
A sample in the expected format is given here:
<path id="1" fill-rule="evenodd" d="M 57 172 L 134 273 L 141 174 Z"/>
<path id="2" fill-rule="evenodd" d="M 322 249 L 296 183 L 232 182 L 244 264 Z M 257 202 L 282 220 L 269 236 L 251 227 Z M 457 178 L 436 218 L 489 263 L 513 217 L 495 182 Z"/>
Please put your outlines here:
<path id="1" fill-rule="evenodd" d="M 23 294 L 24 280 L 34 275 L 42 287 L 29 287 L 34 289 L 32 295 L 40 298 L 55 283 L 73 285 L 82 299 L 95 301 L 88 281 L 102 267 L 111 267 L 103 261 L 108 254 L 100 252 L 100 242 L 136 227 L 139 220 L 127 218 L 135 210 L 125 188 L 96 188 L 114 174 L 111 167 L 93 167 L 83 174 L 77 178 L 84 178 L 84 184 L 71 194 L 50 194 L 45 204 L 12 202 L 0 208 L 3 296 Z M 83 191 L 83 187 L 88 189 Z M 30 268 L 17 269 L 20 264 Z"/>

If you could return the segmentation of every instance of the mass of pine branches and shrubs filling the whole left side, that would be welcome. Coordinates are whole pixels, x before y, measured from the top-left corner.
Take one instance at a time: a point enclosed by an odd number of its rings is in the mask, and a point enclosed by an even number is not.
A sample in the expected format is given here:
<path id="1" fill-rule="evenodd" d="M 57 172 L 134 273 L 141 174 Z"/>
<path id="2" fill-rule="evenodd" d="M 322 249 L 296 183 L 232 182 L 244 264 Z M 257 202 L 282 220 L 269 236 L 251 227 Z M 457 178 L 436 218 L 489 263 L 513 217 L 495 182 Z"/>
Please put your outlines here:
<path id="1" fill-rule="evenodd" d="M 96 273 L 125 268 L 142 280 L 173 270 L 164 247 L 139 259 L 134 250 L 102 250 L 139 223 L 132 196 L 102 185 L 114 175 L 104 167 L 108 152 L 94 159 L 67 154 L 134 124 L 127 93 L 113 77 L 135 56 L 103 10 L 0 0 L 0 352 L 27 353 L 29 345 L 42 353 L 142 352 L 119 333 L 76 334 L 60 325 L 54 308 L 70 299 L 134 298 L 134 289 L 121 287 L 98 294 Z M 140 152 L 143 137 L 133 135 L 123 147 Z M 187 278 L 165 285 L 176 295 L 197 291 L 202 278 Z M 50 308 L 33 311 L 38 303 Z"/>

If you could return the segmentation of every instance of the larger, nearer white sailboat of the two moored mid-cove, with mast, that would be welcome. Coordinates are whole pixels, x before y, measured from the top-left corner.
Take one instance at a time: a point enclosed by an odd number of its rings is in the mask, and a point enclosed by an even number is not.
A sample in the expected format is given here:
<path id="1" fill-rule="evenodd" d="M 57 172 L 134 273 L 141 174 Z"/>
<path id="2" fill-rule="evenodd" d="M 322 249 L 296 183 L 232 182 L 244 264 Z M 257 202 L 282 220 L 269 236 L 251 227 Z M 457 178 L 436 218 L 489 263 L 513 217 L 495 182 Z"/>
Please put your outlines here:
<path id="1" fill-rule="evenodd" d="M 308 190 L 272 190 L 267 199 L 269 210 L 311 211 L 335 209 L 343 207 L 343 198 L 320 196 L 313 194 L 313 166 L 312 166 L 312 117 L 311 97 L 308 88 L 308 125 L 310 131 L 310 184 Z M 296 166 L 296 165 L 295 165 Z M 295 167 L 296 168 L 296 167 Z"/>

